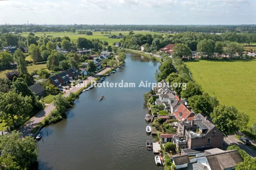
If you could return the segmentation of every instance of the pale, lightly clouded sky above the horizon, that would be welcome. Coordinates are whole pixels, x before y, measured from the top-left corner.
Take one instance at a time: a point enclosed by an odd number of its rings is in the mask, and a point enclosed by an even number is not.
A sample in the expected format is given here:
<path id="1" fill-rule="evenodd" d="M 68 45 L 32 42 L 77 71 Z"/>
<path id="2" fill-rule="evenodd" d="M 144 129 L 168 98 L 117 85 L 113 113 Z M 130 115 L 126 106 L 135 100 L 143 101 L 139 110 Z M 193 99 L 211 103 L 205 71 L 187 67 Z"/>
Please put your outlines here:
<path id="1" fill-rule="evenodd" d="M 256 24 L 256 0 L 0 0 L 0 24 Z"/>

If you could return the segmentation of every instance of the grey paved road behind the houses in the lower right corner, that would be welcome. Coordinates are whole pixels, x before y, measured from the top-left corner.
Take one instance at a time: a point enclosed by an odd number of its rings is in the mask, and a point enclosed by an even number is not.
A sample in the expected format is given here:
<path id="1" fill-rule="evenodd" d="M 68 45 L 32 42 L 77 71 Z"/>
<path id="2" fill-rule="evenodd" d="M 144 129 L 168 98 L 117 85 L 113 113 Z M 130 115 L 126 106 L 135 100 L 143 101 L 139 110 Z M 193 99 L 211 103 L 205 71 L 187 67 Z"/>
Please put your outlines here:
<path id="1" fill-rule="evenodd" d="M 235 135 L 230 135 L 227 138 L 224 138 L 224 146 L 223 148 L 226 149 L 229 145 L 236 144 L 241 149 L 246 151 L 251 157 L 256 157 L 256 151 L 251 146 L 245 145 L 243 142 L 241 142 L 239 139 L 235 138 Z"/>

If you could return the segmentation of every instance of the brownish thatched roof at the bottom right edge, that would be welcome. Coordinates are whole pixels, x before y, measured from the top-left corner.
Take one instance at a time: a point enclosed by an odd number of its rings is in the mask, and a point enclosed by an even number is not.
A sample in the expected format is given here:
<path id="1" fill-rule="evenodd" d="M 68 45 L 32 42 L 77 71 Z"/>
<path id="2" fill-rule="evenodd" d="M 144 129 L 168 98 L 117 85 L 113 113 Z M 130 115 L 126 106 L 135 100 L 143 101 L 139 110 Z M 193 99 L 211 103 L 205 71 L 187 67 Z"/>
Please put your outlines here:
<path id="1" fill-rule="evenodd" d="M 211 169 L 224 170 L 225 168 L 234 167 L 242 162 L 242 158 L 237 150 L 224 151 L 205 156 Z"/>

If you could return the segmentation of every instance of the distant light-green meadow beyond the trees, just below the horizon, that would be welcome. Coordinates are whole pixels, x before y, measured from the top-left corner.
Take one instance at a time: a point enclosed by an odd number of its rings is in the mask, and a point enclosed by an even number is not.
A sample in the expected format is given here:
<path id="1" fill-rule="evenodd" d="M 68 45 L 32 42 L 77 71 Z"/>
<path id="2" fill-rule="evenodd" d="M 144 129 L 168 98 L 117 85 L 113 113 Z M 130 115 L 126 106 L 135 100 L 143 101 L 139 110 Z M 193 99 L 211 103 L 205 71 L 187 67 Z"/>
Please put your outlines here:
<path id="1" fill-rule="evenodd" d="M 118 36 L 118 34 L 121 33 L 122 35 L 128 35 L 129 31 L 111 31 L 111 35 L 116 35 Z M 159 33 L 154 33 L 154 32 L 150 32 L 150 31 L 134 31 L 135 34 L 159 34 Z M 29 32 L 23 32 L 20 33 L 22 36 L 27 36 L 29 34 Z M 112 43 L 114 42 L 119 42 L 121 39 L 112 39 L 112 38 L 108 38 L 108 36 L 104 36 L 106 34 L 100 34 L 100 32 L 93 32 L 92 36 L 87 36 L 84 34 L 78 34 L 78 33 L 71 33 L 71 32 L 37 32 L 34 33 L 35 36 L 44 36 L 44 34 L 46 34 L 46 36 L 50 35 L 53 37 L 63 37 L 63 36 L 68 36 L 71 41 L 76 42 L 78 37 L 84 37 L 87 38 L 89 40 L 91 39 L 99 39 L 100 41 L 107 41 L 110 45 L 112 45 Z"/>

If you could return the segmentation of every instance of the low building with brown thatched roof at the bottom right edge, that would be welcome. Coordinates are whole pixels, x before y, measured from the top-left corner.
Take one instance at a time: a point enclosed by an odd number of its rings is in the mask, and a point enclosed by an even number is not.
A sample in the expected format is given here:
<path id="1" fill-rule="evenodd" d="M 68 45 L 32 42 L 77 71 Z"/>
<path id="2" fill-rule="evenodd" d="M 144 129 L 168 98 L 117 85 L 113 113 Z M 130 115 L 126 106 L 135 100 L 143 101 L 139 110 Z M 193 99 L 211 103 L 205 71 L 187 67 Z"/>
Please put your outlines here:
<path id="1" fill-rule="evenodd" d="M 189 155 L 173 156 L 173 164 L 176 169 L 193 170 L 234 170 L 238 163 L 243 162 L 237 150 L 223 151 L 221 149 L 205 150 L 201 156 Z"/>

